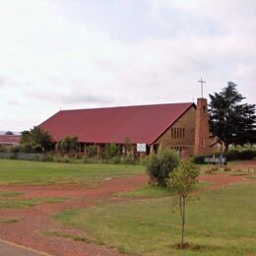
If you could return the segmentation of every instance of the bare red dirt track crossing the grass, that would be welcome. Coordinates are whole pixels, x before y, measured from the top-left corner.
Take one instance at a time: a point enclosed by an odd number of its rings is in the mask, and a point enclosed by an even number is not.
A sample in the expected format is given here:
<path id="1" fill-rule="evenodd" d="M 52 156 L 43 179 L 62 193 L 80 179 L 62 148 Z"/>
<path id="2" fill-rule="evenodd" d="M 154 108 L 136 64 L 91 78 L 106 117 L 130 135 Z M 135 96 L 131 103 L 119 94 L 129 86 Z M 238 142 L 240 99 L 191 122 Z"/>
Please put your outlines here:
<path id="1" fill-rule="evenodd" d="M 250 164 L 255 164 L 256 161 Z M 243 165 L 244 166 L 244 165 Z M 242 182 L 241 176 L 229 174 L 205 174 L 200 181 L 210 182 L 208 189 L 218 188 L 234 182 Z M 46 236 L 42 231 L 59 231 L 72 235 L 86 236 L 88 234 L 73 227 L 64 227 L 55 222 L 51 216 L 54 213 L 70 208 L 86 208 L 96 204 L 98 200 L 113 200 L 113 194 L 131 191 L 148 182 L 146 174 L 130 177 L 113 178 L 104 181 L 99 187 L 86 189 L 79 184 L 50 186 L 0 186 L 0 191 L 21 191 L 23 195 L 17 198 L 67 197 L 70 200 L 55 204 L 39 204 L 28 209 L 0 209 L 0 218 L 16 219 L 16 224 L 0 223 L 0 238 L 52 255 L 119 255 L 114 248 L 107 248 L 94 243 L 74 241 L 70 238 Z M 120 199 L 124 200 L 124 199 Z"/>

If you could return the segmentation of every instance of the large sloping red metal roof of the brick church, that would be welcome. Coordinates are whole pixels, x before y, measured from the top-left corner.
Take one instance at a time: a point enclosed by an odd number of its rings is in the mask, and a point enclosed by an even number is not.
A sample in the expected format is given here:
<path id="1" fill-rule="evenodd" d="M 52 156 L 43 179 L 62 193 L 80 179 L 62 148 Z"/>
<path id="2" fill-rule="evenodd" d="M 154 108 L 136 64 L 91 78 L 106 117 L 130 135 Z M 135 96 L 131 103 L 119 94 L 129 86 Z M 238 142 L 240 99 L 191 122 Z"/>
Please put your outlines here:
<path id="1" fill-rule="evenodd" d="M 77 135 L 79 142 L 154 143 L 193 103 L 61 110 L 39 126 L 53 141 Z"/>

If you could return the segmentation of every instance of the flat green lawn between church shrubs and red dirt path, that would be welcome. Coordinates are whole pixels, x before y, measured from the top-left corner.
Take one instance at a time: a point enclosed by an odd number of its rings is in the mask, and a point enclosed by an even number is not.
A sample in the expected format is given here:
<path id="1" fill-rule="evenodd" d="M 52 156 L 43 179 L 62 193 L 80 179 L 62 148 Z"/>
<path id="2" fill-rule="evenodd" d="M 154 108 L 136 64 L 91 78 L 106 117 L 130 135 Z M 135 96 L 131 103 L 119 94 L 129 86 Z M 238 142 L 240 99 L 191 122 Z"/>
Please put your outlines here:
<path id="1" fill-rule="evenodd" d="M 0 160 L 0 184 L 94 183 L 143 172 L 145 167 L 141 165 Z"/>

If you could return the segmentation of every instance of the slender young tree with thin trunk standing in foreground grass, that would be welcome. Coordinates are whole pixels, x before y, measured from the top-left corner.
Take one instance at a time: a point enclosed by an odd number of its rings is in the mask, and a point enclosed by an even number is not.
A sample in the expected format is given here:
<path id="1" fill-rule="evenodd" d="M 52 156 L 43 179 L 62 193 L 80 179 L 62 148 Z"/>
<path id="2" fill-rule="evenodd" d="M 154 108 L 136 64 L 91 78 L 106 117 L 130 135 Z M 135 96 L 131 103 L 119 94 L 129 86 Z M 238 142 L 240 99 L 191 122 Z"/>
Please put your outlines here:
<path id="1" fill-rule="evenodd" d="M 199 167 L 188 160 L 182 160 L 180 165 L 174 169 L 168 179 L 168 187 L 176 191 L 175 205 L 178 206 L 181 217 L 181 244 L 184 248 L 186 201 L 194 185 L 198 182 Z"/>

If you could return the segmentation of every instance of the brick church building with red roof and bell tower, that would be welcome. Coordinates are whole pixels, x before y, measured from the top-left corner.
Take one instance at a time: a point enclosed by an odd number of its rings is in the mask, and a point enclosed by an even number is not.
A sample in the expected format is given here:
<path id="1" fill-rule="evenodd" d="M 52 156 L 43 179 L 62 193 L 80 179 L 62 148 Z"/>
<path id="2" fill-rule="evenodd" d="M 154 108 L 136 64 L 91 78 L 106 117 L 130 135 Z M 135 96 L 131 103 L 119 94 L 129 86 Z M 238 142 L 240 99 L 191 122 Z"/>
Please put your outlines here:
<path id="1" fill-rule="evenodd" d="M 39 125 L 54 143 L 66 136 L 77 136 L 80 151 L 87 153 L 96 145 L 97 155 L 107 144 L 132 146 L 133 156 L 172 149 L 186 156 L 210 152 L 207 99 L 198 98 L 197 105 L 167 103 L 92 109 L 60 110 Z M 138 153 L 138 145 L 145 153 Z"/>

